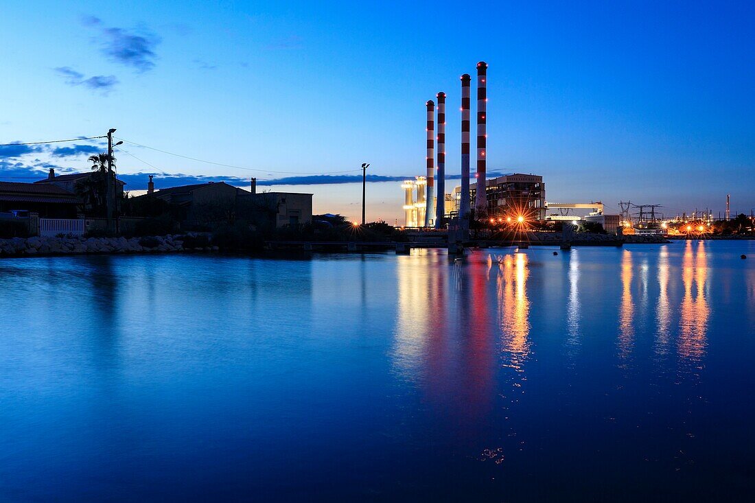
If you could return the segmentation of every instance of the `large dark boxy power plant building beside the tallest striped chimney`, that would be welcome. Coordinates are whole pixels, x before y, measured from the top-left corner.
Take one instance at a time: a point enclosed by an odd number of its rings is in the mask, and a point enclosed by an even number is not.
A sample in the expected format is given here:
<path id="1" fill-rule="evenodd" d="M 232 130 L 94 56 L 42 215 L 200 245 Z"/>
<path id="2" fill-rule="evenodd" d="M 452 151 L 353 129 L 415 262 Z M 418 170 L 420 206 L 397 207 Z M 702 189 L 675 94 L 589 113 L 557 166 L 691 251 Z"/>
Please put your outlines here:
<path id="1" fill-rule="evenodd" d="M 475 201 L 477 184 L 470 184 L 470 202 Z M 528 220 L 545 218 L 545 184 L 537 174 L 504 174 L 486 181 L 486 204 L 488 216 L 504 217 L 513 213 L 522 214 Z M 452 196 L 455 210 L 461 208 L 461 187 L 456 187 Z"/>

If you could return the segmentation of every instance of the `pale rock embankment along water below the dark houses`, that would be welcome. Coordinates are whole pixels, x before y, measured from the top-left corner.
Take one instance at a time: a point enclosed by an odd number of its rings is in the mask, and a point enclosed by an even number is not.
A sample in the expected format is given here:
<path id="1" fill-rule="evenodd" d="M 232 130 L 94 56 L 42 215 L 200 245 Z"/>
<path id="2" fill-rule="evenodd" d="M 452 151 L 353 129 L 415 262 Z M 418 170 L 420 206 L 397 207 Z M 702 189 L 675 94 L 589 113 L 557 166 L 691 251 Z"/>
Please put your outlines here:
<path id="1" fill-rule="evenodd" d="M 217 246 L 196 246 L 198 236 L 168 235 L 146 237 L 30 237 L 0 239 L 0 257 L 39 255 L 79 255 L 97 253 L 217 252 Z M 208 239 L 204 239 L 209 243 Z M 189 246 L 191 245 L 191 246 Z"/>

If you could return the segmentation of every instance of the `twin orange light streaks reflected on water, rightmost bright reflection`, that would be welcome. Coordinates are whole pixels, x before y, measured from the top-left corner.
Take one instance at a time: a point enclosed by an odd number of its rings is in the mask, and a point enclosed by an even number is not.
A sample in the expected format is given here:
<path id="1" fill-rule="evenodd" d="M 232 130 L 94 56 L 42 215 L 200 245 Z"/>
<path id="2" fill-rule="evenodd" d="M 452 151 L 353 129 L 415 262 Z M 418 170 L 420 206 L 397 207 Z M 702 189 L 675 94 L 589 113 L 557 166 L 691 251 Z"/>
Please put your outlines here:
<path id="1" fill-rule="evenodd" d="M 705 298 L 706 279 L 705 242 L 698 242 L 696 252 L 692 242 L 686 242 L 682 259 L 684 297 L 680 306 L 678 350 L 680 356 L 689 360 L 699 360 L 704 356 L 707 345 L 710 307 Z"/>

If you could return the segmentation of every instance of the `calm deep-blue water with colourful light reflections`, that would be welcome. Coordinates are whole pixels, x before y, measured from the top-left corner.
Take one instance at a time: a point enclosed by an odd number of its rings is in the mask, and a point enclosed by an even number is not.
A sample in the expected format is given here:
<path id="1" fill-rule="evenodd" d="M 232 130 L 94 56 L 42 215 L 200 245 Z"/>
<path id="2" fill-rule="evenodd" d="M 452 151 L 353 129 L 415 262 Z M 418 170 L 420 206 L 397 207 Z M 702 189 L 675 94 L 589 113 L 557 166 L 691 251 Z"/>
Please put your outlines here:
<path id="1" fill-rule="evenodd" d="M 755 242 L 552 254 L 0 261 L 0 501 L 751 494 Z"/>

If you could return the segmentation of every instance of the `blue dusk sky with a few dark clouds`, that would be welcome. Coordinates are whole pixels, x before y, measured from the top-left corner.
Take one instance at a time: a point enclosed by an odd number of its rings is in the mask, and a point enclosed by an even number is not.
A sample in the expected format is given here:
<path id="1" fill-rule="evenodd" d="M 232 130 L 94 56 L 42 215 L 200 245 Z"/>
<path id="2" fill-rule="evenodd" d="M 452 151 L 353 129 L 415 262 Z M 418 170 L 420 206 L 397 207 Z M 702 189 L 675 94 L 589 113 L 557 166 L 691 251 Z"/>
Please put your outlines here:
<path id="1" fill-rule="evenodd" d="M 0 143 L 103 134 L 146 175 L 260 181 L 424 172 L 424 103 L 488 69 L 488 171 L 542 174 L 551 201 L 755 207 L 755 8 L 747 2 L 8 2 Z M 0 179 L 88 168 L 91 142 L 0 147 Z M 82 147 L 75 148 L 74 145 Z M 66 147 L 66 150 L 54 150 Z M 146 163 L 145 163 L 146 162 Z M 186 178 L 190 180 L 190 178 Z M 157 178 L 160 185 L 160 177 Z M 180 177 L 165 176 L 163 184 Z M 322 181 L 294 178 L 294 182 Z M 454 183 L 448 184 L 449 189 Z M 360 184 L 286 184 L 356 218 Z M 401 219 L 396 181 L 368 219 Z"/>

